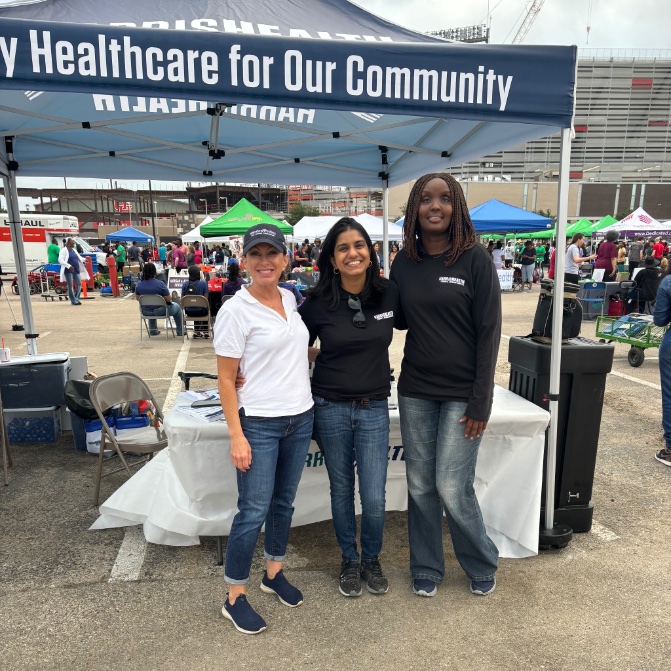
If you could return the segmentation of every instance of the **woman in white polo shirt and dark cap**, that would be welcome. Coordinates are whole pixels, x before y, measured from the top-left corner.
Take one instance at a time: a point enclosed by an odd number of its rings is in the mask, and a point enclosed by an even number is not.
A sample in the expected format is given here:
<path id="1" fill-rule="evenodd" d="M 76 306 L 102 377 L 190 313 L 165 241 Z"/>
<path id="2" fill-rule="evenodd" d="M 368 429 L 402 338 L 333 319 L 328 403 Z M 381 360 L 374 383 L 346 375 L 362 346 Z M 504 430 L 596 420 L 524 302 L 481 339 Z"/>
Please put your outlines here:
<path id="1" fill-rule="evenodd" d="M 278 287 L 288 260 L 284 236 L 276 226 L 253 226 L 245 234 L 243 255 L 252 284 L 224 303 L 214 333 L 221 405 L 238 480 L 238 513 L 224 567 L 229 592 L 222 613 L 238 631 L 258 634 L 266 623 L 246 592 L 264 523 L 266 571 L 261 590 L 292 608 L 303 603 L 282 564 L 312 435 L 313 401 L 308 330 L 293 294 Z M 238 368 L 245 385 L 236 392 Z"/>

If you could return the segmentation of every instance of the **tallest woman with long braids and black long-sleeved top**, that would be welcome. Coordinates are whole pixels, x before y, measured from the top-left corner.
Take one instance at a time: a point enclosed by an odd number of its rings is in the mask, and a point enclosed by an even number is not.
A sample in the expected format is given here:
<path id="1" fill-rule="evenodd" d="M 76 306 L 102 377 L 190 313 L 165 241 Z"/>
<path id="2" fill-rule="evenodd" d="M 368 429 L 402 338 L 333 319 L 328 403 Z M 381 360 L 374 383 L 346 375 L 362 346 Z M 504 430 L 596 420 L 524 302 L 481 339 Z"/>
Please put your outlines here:
<path id="1" fill-rule="evenodd" d="M 391 280 L 407 328 L 398 384 L 408 481 L 413 591 L 431 597 L 445 574 L 442 511 L 473 594 L 496 587 L 498 550 L 473 489 L 492 407 L 501 290 L 459 183 L 424 175 L 410 192 Z"/>

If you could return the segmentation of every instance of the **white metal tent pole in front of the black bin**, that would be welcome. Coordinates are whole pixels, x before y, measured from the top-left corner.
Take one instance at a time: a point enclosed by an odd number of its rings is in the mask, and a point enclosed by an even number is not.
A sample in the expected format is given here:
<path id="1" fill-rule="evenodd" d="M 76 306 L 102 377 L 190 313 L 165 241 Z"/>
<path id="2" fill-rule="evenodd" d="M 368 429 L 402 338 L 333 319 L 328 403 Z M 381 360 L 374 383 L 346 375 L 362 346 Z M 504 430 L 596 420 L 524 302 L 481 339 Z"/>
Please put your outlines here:
<path id="1" fill-rule="evenodd" d="M 557 249 L 564 247 L 566 240 L 566 216 L 568 214 L 569 166 L 571 159 L 571 129 L 561 132 L 561 152 L 559 155 L 559 188 L 557 202 Z M 550 363 L 550 427 L 545 477 L 545 529 L 554 527 L 555 471 L 557 466 L 557 421 L 559 419 L 559 383 L 561 373 L 561 336 L 564 305 L 564 262 L 565 255 L 555 255 L 555 285 L 552 314 L 552 357 Z"/>

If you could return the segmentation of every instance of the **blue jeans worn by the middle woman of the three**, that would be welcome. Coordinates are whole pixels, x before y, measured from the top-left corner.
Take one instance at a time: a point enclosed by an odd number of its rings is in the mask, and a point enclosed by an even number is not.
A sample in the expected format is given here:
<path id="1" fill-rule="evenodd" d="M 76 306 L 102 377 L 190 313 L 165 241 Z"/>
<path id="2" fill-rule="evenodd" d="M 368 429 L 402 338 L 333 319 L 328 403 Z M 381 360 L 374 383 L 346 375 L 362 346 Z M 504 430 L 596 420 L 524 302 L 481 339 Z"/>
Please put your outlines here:
<path id="1" fill-rule="evenodd" d="M 387 400 L 327 401 L 313 396 L 315 439 L 324 453 L 331 483 L 331 514 L 343 560 L 359 561 L 354 516 L 354 467 L 361 497 L 361 558 L 377 559 L 384 533 L 385 485 L 389 454 Z"/>

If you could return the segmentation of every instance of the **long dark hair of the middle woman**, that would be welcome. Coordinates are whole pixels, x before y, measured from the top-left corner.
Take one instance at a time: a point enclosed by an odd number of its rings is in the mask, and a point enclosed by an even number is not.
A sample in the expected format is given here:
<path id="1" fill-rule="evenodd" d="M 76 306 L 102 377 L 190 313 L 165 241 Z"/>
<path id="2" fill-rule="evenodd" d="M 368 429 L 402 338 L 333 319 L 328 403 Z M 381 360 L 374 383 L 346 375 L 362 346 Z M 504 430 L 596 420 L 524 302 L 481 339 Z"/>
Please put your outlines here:
<path id="1" fill-rule="evenodd" d="M 389 286 L 389 280 L 380 277 L 380 266 L 377 262 L 377 254 L 373 252 L 373 243 L 366 229 L 351 217 L 343 217 L 336 221 L 331 230 L 326 234 L 322 243 L 322 250 L 319 254 L 319 280 L 310 290 L 309 295 L 312 298 L 318 298 L 329 301 L 329 310 L 335 310 L 340 304 L 340 277 L 333 272 L 331 259 L 335 256 L 336 242 L 338 236 L 345 231 L 354 230 L 361 233 L 366 241 L 368 252 L 370 253 L 371 265 L 366 270 L 366 283 L 363 291 L 359 295 L 362 305 L 379 305 L 384 292 Z"/>

